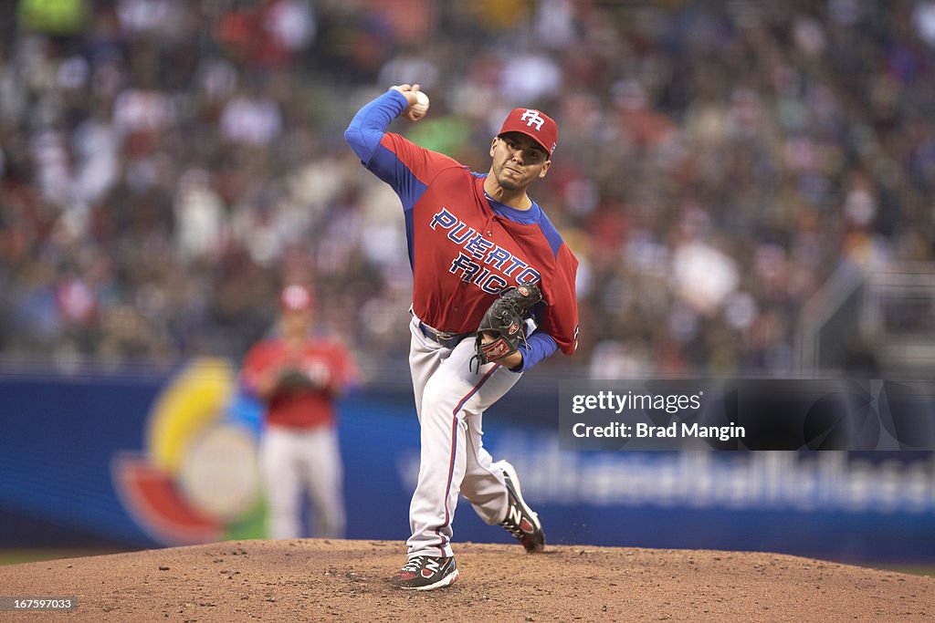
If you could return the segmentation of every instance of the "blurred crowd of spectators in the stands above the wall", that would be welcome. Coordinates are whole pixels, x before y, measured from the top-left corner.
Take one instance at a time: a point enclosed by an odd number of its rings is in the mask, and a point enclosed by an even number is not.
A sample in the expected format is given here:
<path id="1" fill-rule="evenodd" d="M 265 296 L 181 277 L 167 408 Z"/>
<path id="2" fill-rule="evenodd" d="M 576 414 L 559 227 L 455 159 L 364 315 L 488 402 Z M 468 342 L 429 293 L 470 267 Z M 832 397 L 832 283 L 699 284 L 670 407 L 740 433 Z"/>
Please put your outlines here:
<path id="1" fill-rule="evenodd" d="M 558 120 L 533 196 L 592 375 L 789 374 L 841 262 L 935 260 L 935 2 L 20 0 L 0 34 L 6 360 L 239 359 L 293 281 L 404 356 L 401 211 L 342 138 L 403 82 L 432 110 L 392 129 L 478 171 L 511 107 Z"/>

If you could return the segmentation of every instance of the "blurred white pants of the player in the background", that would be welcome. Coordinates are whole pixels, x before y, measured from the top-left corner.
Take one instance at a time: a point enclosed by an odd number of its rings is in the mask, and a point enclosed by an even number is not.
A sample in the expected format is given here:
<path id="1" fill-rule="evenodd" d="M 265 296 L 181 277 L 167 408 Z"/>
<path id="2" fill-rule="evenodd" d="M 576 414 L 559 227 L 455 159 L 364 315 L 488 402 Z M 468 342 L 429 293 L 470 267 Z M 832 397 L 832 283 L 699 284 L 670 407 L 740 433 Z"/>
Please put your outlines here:
<path id="1" fill-rule="evenodd" d="M 309 492 L 315 517 L 312 535 L 344 536 L 343 470 L 334 427 L 295 430 L 267 426 L 260 444 L 260 468 L 272 538 L 302 536 L 303 489 Z"/>

